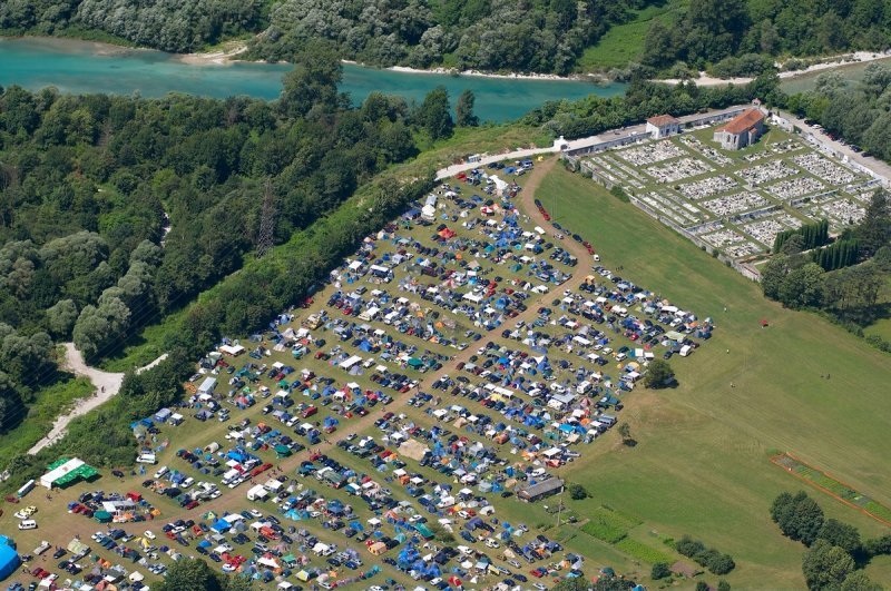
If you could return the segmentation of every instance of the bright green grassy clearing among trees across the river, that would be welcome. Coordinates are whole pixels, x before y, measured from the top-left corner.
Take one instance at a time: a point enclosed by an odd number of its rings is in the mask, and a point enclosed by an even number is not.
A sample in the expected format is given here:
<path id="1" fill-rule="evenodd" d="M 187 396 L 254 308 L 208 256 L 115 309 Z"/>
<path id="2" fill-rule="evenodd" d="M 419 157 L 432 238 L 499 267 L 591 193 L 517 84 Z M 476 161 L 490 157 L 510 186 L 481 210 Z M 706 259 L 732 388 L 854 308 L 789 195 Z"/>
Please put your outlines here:
<path id="1" fill-rule="evenodd" d="M 667 23 L 685 4 L 686 0 L 667 0 L 662 6 L 633 11 L 633 20 L 613 27 L 596 46 L 585 50 L 576 69 L 581 72 L 604 71 L 625 68 L 628 62 L 639 60 L 653 20 L 659 19 Z"/>

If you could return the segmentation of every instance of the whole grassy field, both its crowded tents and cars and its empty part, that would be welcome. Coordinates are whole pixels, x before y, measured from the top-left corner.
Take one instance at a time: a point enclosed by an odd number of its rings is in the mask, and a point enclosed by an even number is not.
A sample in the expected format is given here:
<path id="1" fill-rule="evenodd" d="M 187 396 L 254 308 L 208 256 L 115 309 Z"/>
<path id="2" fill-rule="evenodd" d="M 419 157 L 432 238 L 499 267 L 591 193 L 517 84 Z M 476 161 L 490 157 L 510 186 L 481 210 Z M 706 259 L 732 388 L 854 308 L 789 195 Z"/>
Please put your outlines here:
<path id="1" fill-rule="evenodd" d="M 584 208 L 597 215 L 565 214 Z M 793 449 L 882 500 L 870 466 L 884 465 L 888 416 L 872 376 L 888 368 L 755 289 L 554 161 L 466 174 L 365 237 L 303 306 L 196 359 L 182 406 L 134 423 L 144 449 L 119 476 L 26 493 L 38 529 L 16 532 L 19 551 L 82 551 L 77 533 L 89 555 L 28 568 L 118 589 L 184 555 L 265 589 L 527 589 L 609 572 L 645 582 L 654 560 L 681 558 L 666 539 L 705 531 L 736 556 L 733 584 L 795 585 L 784 577 L 799 555 L 763 519 L 794 484 L 767 452 Z M 831 358 L 796 351 L 805 331 L 835 344 Z M 790 356 L 832 364 L 863 404 L 840 408 L 825 383 L 813 398 L 777 388 Z M 678 387 L 643 387 L 655 358 Z M 825 429 L 789 430 L 796 420 Z M 568 482 L 590 496 L 570 501 Z M 627 515 L 621 543 L 579 524 L 607 505 Z M 891 564 L 870 569 L 880 580 Z"/>

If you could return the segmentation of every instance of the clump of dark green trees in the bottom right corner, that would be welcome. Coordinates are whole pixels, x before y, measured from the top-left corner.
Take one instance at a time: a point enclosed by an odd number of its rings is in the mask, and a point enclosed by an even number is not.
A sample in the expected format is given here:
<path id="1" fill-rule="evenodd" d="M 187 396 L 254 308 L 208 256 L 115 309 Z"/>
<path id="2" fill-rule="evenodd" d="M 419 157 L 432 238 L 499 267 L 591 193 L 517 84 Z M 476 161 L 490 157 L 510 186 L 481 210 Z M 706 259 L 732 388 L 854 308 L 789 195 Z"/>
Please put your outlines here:
<path id="1" fill-rule="evenodd" d="M 891 534 L 862 540 L 849 523 L 826 519 L 823 509 L 804 491 L 781 493 L 771 505 L 771 519 L 783 535 L 804 544 L 802 572 L 812 590 L 880 591 L 863 567 L 891 554 Z"/>

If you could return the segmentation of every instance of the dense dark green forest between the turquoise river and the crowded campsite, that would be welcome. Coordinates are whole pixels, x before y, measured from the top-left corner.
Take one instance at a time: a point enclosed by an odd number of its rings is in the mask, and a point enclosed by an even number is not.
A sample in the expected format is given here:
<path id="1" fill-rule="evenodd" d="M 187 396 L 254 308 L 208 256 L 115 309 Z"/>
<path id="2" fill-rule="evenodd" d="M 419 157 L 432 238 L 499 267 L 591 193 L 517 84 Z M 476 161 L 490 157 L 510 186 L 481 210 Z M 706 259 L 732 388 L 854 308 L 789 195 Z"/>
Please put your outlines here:
<path id="1" fill-rule="evenodd" d="M 0 434 L 52 383 L 53 343 L 107 357 L 237 269 L 227 309 L 202 329 L 256 328 L 358 239 L 345 223 L 329 228 L 316 259 L 306 243 L 300 263 L 245 267 L 261 216 L 275 220 L 268 248 L 334 224 L 360 187 L 384 205 L 412 194 L 372 179 L 418 154 L 417 139 L 452 132 L 448 93 L 411 108 L 372 93 L 353 108 L 340 76 L 336 56 L 319 48 L 274 102 L 0 89 Z M 472 95 L 459 104 L 459 122 L 476 124 Z M 382 225 L 378 215 L 369 223 Z"/>

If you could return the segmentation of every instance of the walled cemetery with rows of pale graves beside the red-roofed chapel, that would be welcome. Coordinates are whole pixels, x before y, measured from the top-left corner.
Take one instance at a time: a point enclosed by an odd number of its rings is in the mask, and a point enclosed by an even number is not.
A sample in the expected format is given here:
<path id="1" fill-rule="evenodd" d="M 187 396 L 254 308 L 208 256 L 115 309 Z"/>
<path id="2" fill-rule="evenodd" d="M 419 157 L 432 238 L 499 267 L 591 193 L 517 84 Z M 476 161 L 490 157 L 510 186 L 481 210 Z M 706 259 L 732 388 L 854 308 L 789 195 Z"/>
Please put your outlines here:
<path id="1" fill-rule="evenodd" d="M 839 234 L 864 215 L 879 181 L 780 126 L 723 149 L 699 126 L 586 156 L 584 174 L 725 259 L 770 254 L 777 233 L 825 218 Z"/>

